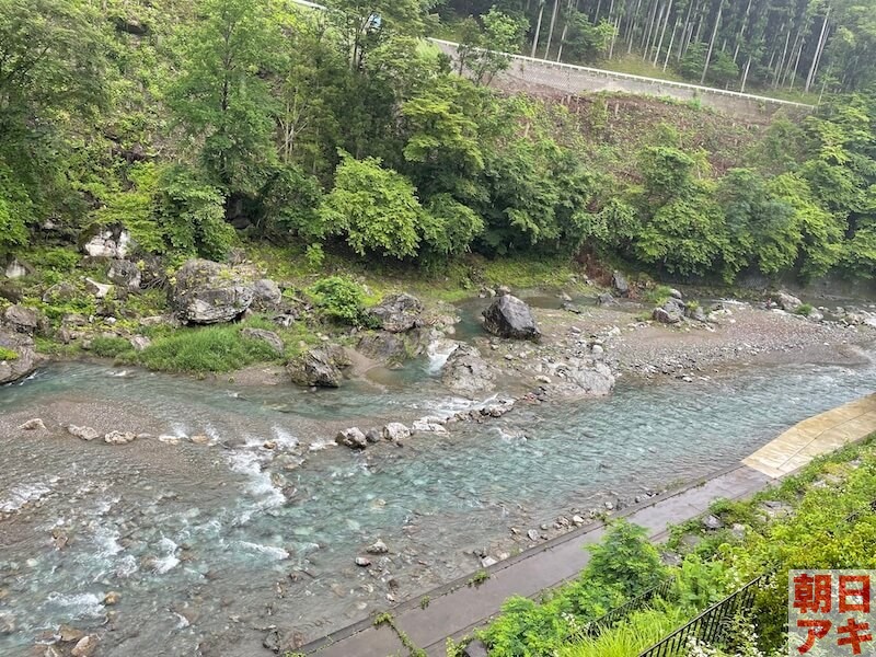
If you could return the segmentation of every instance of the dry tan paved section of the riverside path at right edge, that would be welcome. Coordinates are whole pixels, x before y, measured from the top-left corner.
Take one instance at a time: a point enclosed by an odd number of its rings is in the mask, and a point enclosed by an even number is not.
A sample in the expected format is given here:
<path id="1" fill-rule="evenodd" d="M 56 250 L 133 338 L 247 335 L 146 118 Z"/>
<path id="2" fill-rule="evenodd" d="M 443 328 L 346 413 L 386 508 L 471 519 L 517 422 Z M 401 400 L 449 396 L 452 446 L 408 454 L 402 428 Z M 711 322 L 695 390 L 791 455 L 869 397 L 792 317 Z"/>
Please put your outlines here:
<path id="1" fill-rule="evenodd" d="M 827 411 L 791 427 L 742 460 L 749 468 L 779 479 L 816 457 L 876 431 L 876 394 Z"/>

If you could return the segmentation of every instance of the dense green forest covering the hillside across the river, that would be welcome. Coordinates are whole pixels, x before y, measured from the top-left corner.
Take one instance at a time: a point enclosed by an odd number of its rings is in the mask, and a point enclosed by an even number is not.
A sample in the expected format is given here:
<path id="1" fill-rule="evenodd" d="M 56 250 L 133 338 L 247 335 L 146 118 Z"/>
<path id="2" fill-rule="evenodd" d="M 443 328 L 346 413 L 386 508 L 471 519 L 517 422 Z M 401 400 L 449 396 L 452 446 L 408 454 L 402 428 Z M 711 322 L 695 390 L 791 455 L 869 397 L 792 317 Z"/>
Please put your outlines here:
<path id="1" fill-rule="evenodd" d="M 122 224 L 170 265 L 258 240 L 316 268 L 339 252 L 437 273 L 474 252 L 873 277 L 872 12 L 775 1 L 0 0 L 0 256 Z M 471 76 L 423 39 L 441 21 L 461 23 Z M 669 125 L 606 142 L 606 99 L 581 114 L 486 84 L 506 62 L 476 46 L 546 31 L 552 55 L 596 21 L 615 48 L 705 47 L 751 80 L 806 71 L 850 93 L 724 168 Z"/>

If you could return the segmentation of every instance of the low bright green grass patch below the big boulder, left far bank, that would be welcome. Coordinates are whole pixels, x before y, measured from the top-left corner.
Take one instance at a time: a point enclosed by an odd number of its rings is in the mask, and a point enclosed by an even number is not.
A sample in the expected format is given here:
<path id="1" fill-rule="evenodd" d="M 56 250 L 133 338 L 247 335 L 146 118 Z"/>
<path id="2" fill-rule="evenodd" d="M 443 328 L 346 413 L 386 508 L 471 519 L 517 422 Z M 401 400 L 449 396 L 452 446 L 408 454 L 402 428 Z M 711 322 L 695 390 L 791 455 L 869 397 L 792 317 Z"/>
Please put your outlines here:
<path id="1" fill-rule="evenodd" d="M 266 343 L 241 337 L 238 326 L 207 326 L 155 338 L 140 351 L 138 361 L 169 372 L 228 372 L 276 358 Z"/>

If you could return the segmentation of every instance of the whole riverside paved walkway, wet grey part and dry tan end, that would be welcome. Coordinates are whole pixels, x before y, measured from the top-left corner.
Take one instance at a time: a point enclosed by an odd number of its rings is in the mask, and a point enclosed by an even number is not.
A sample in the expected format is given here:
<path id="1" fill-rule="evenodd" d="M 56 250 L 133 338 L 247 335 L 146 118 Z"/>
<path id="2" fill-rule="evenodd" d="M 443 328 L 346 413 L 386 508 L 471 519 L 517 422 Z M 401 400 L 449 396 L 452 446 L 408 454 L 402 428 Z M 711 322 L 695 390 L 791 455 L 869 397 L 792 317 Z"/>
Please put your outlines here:
<path id="1" fill-rule="evenodd" d="M 735 465 L 680 491 L 664 494 L 625 509 L 621 517 L 648 530 L 652 540 L 666 538 L 668 529 L 706 511 L 717 498 L 753 495 L 816 456 L 876 431 L 876 394 L 804 420 Z M 578 575 L 589 560 L 583 548 L 598 542 L 604 526 L 596 522 L 533 548 L 488 568 L 480 587 L 459 579 L 430 591 L 429 604 L 419 599 L 393 608 L 396 626 L 431 657 L 443 657 L 446 637 L 459 638 L 485 624 L 509 596 L 535 596 Z M 404 656 L 408 650 L 395 632 L 373 627 L 371 620 L 339 630 L 304 646 L 320 657 Z"/>

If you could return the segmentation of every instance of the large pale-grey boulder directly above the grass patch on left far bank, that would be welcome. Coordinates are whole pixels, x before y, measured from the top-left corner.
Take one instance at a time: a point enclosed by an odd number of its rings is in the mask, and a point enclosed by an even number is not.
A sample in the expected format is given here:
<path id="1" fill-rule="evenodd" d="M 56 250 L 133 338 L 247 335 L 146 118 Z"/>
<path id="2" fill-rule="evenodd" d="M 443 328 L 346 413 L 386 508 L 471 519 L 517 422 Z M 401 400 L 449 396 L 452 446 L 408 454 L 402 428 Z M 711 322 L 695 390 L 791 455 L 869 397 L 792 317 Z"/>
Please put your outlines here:
<path id="1" fill-rule="evenodd" d="M 182 322 L 230 322 L 253 302 L 252 284 L 239 272 L 205 260 L 191 260 L 176 273 L 171 306 Z"/>

